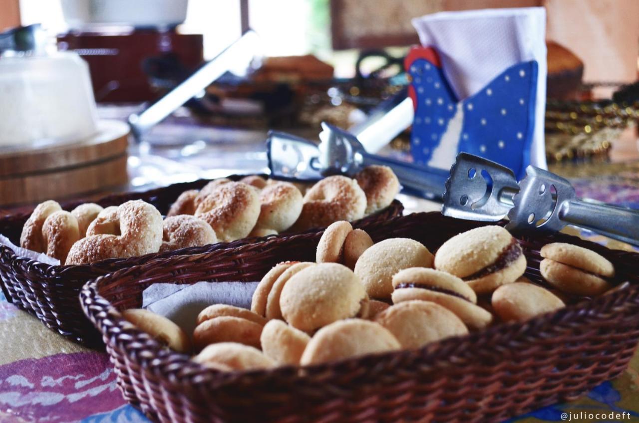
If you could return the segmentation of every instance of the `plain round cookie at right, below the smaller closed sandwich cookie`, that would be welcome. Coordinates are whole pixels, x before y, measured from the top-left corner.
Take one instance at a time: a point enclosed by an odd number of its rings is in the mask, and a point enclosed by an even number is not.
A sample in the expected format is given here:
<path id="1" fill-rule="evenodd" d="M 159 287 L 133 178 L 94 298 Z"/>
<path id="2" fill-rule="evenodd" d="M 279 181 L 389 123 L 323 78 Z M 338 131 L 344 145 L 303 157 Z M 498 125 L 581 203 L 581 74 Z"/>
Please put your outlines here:
<path id="1" fill-rule="evenodd" d="M 503 321 L 525 321 L 566 307 L 548 289 L 526 282 L 513 282 L 495 289 L 491 304 Z"/>

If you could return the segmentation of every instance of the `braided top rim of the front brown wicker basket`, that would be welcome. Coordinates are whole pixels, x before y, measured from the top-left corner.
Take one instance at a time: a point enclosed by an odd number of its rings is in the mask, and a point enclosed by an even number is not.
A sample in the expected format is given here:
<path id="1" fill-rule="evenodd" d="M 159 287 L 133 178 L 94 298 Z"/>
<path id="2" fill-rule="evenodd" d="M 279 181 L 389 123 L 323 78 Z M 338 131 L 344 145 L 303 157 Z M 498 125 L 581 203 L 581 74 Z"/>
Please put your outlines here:
<path id="1" fill-rule="evenodd" d="M 429 212 L 429 213 L 414 213 L 416 215 L 433 215 L 439 214 L 437 211 Z M 408 215 L 410 216 L 410 215 Z M 404 217 L 395 217 L 392 220 L 403 219 Z M 389 220 L 389 223 L 392 222 Z M 503 222 L 502 222 L 503 223 Z M 295 235 L 294 235 L 295 236 Z M 541 237 L 538 237 L 541 238 Z M 269 242 L 269 241 L 266 241 Z M 270 242 L 277 242 L 277 240 L 273 239 Z M 597 252 L 607 252 L 606 255 L 611 256 L 614 255 L 617 257 L 616 261 L 630 261 L 631 259 L 635 260 L 637 263 L 636 266 L 639 266 L 639 254 L 635 252 L 626 252 L 626 251 L 617 251 L 610 250 L 607 247 L 602 245 L 592 243 L 589 241 L 581 240 L 576 236 L 566 235 L 566 234 L 555 234 L 553 235 L 552 240 L 550 242 L 569 242 L 574 243 L 576 245 L 591 247 L 591 249 L 597 250 Z M 240 249 L 246 248 L 247 246 L 239 247 Z M 178 260 L 184 259 L 180 257 L 170 258 L 168 260 L 160 260 L 164 266 L 170 266 L 171 264 L 178 263 Z M 167 263 L 167 261 L 169 263 Z M 153 261 L 155 263 L 155 261 Z M 135 266 L 136 268 L 141 268 L 142 266 L 150 266 L 151 263 L 146 263 L 146 265 Z M 241 380 L 250 380 L 250 378 L 269 378 L 269 377 L 277 377 L 284 374 L 288 374 L 294 372 L 298 375 L 298 378 L 312 378 L 313 374 L 323 373 L 328 371 L 328 369 L 335 369 L 335 367 L 355 367 L 360 362 L 371 362 L 373 360 L 376 363 L 383 364 L 385 362 L 390 362 L 392 360 L 401 359 L 402 357 L 410 357 L 415 356 L 419 357 L 424 362 L 431 362 L 433 369 L 435 369 L 438 365 L 450 364 L 446 359 L 443 359 L 438 356 L 438 351 L 442 350 L 456 350 L 456 344 L 459 344 L 461 339 L 468 342 L 473 342 L 479 345 L 481 348 L 482 339 L 490 338 L 492 335 L 504 335 L 505 332 L 510 332 L 512 334 L 525 334 L 529 330 L 533 330 L 537 327 L 548 327 L 555 321 L 563 321 L 569 316 L 574 314 L 583 315 L 583 311 L 587 309 L 595 309 L 597 306 L 601 306 L 604 304 L 608 304 L 610 302 L 614 303 L 623 303 L 625 298 L 631 295 L 639 295 L 639 284 L 631 284 L 625 289 L 620 289 L 619 291 L 615 291 L 613 293 L 608 293 L 605 295 L 597 296 L 590 300 L 584 299 L 576 304 L 569 304 L 562 309 L 558 309 L 557 311 L 550 312 L 547 314 L 543 314 L 541 316 L 537 316 L 533 319 L 529 319 L 525 322 L 500 322 L 497 325 L 489 327 L 484 330 L 478 330 L 476 332 L 471 332 L 470 334 L 456 337 L 449 337 L 447 339 L 443 339 L 441 341 L 433 342 L 419 349 L 415 350 L 398 350 L 398 351 L 389 351 L 386 353 L 373 353 L 362 355 L 359 357 L 346 358 L 344 360 L 338 360 L 335 362 L 328 362 L 317 365 L 310 366 L 279 366 L 274 367 L 272 369 L 260 369 L 260 370 L 252 370 L 252 371 L 235 371 L 235 372 L 221 372 L 216 371 L 215 369 L 210 369 L 204 365 L 198 364 L 191 360 L 191 356 L 183 353 L 178 353 L 176 351 L 167 350 L 162 347 L 162 345 L 155 341 L 150 335 L 142 332 L 137 329 L 124 318 L 121 317 L 121 314 L 117 309 L 111 305 L 111 303 L 104 298 L 99 293 L 99 289 L 107 282 L 116 280 L 128 272 L 132 272 L 135 270 L 134 268 L 125 268 L 118 270 L 113 273 L 109 273 L 107 275 L 102 275 L 93 281 L 89 281 L 84 284 L 84 287 L 81 291 L 81 303 L 82 309 L 84 313 L 88 316 L 88 318 L 92 321 L 92 323 L 100 330 L 100 332 L 104 335 L 105 331 L 102 330 L 101 326 L 105 324 L 105 321 L 108 321 L 109 327 L 118 327 L 119 332 L 125 330 L 127 333 L 131 334 L 131 337 L 127 337 L 126 340 L 123 340 L 122 337 L 110 337 L 110 341 L 114 342 L 114 344 L 125 352 L 125 355 L 132 360 L 133 362 L 137 362 L 142 369 L 145 371 L 149 371 L 151 374 L 157 376 L 158 378 L 165 378 L 167 376 L 167 371 L 165 369 L 166 363 L 170 362 L 171 365 L 178 369 L 177 372 L 172 372 L 171 383 L 172 384 L 180 384 L 181 386 L 186 387 L 187 385 L 206 385 L 209 388 L 219 388 L 224 385 L 230 385 L 236 383 Z M 168 274 L 168 273 L 167 273 Z M 108 316 L 97 316 L 93 309 L 92 304 L 100 303 L 105 305 Z M 584 305 L 589 305 L 589 307 L 584 307 Z M 589 325 L 596 323 L 596 320 L 590 321 Z M 565 332 L 567 328 L 563 328 L 562 331 Z M 559 333 L 559 332 L 558 332 Z M 104 335 L 106 336 L 106 335 Z M 131 348 L 132 341 L 134 344 L 139 345 L 140 342 L 144 343 L 144 346 L 151 354 L 145 354 L 145 357 L 141 357 L 141 355 L 136 355 L 135 351 Z M 471 351 L 472 354 L 478 353 L 481 351 L 476 351 L 473 349 Z M 148 357 L 146 357 L 148 355 Z M 464 360 L 470 360 L 472 357 L 466 357 Z M 459 364 L 459 359 L 456 359 L 456 364 Z M 303 374 L 302 374 L 303 373 Z M 196 381 L 189 378 L 189 376 L 197 374 L 199 377 Z"/>

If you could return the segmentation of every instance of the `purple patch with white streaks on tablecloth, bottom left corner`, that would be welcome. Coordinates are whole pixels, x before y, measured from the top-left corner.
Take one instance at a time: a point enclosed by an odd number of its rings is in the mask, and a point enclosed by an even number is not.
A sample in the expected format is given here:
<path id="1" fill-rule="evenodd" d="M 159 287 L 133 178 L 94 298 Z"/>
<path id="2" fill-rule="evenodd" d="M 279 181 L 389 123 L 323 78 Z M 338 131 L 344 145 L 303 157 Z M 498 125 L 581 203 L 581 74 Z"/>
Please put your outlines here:
<path id="1" fill-rule="evenodd" d="M 5 415 L 70 422 L 123 404 L 104 353 L 61 353 L 0 366 L 0 413 Z"/>

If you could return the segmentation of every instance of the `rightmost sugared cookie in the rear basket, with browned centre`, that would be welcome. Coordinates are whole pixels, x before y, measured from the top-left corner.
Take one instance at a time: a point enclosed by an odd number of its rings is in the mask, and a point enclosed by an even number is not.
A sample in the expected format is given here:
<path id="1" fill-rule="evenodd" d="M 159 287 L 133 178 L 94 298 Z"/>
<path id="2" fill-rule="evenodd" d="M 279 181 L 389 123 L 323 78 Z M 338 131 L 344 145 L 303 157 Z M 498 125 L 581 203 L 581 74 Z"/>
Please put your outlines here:
<path id="1" fill-rule="evenodd" d="M 399 192 L 399 180 L 388 166 L 367 166 L 355 175 L 355 180 L 366 194 L 366 215 L 386 208 Z"/>

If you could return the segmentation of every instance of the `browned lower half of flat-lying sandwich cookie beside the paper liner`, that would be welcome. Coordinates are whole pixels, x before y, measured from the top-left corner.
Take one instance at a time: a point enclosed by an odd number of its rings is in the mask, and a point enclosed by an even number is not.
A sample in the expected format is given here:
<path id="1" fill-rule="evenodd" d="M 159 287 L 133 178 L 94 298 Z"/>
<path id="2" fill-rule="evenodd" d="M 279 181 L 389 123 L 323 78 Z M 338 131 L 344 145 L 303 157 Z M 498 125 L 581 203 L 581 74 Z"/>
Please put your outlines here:
<path id="1" fill-rule="evenodd" d="M 238 342 L 259 348 L 263 325 L 249 319 L 220 316 L 204 320 L 193 331 L 193 345 L 201 350 L 218 342 Z"/>

